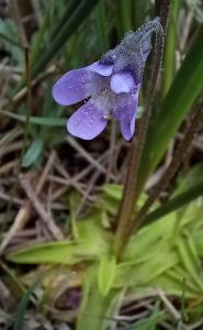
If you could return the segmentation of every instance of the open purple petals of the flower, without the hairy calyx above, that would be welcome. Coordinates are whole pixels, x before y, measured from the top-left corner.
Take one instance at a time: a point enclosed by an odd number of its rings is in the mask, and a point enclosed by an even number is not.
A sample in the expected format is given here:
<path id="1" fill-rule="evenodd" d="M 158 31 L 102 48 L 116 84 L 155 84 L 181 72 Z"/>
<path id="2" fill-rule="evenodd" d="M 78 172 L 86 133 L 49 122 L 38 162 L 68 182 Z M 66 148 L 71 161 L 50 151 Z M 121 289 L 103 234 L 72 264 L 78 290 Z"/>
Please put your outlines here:
<path id="1" fill-rule="evenodd" d="M 129 72 L 113 74 L 112 64 L 95 62 L 65 74 L 55 84 L 53 97 L 61 106 L 90 98 L 68 120 L 70 134 L 91 140 L 105 129 L 109 118 L 113 116 L 128 141 L 135 131 L 139 88 L 140 84 L 135 84 Z"/>

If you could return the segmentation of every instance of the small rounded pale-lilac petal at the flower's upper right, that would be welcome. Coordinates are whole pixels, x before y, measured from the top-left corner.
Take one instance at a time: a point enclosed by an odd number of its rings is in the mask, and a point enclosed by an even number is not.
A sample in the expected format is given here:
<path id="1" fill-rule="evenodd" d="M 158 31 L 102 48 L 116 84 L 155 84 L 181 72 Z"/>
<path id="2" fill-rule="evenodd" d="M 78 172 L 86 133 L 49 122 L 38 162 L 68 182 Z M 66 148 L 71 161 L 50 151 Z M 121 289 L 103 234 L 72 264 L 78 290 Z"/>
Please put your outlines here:
<path id="1" fill-rule="evenodd" d="M 132 74 L 127 70 L 114 74 L 111 77 L 110 86 L 115 94 L 131 92 L 133 89 L 136 88 L 134 78 Z"/>

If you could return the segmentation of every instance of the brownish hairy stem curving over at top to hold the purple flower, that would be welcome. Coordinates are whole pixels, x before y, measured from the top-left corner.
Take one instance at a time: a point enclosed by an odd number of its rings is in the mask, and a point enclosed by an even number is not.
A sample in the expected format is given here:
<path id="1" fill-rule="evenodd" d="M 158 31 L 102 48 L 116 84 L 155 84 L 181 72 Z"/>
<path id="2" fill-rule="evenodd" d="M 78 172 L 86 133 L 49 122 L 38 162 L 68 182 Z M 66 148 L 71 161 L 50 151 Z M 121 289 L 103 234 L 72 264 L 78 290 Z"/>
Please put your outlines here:
<path id="1" fill-rule="evenodd" d="M 143 146 L 146 140 L 147 128 L 153 109 L 153 100 L 155 98 L 156 82 L 160 68 L 162 47 L 163 47 L 163 31 L 160 24 L 155 28 L 156 44 L 155 44 L 155 61 L 151 72 L 151 78 L 148 90 L 148 98 L 145 113 L 137 129 L 137 134 L 131 142 L 128 150 L 128 166 L 124 183 L 123 197 L 117 212 L 117 229 L 115 233 L 114 252 L 117 258 L 121 258 L 123 250 L 132 234 L 134 223 L 132 221 L 132 211 L 138 198 L 137 178 L 139 163 L 142 158 Z"/>

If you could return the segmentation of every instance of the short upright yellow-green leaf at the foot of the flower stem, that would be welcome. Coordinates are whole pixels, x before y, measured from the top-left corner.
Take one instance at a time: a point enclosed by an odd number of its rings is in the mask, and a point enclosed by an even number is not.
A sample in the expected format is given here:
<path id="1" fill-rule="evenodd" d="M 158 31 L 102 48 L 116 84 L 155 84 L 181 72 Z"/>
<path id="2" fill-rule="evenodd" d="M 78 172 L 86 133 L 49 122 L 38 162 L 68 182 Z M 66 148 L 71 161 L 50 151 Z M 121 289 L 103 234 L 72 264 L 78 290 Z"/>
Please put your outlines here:
<path id="1" fill-rule="evenodd" d="M 114 255 L 103 255 L 99 265 L 98 286 L 102 296 L 106 296 L 112 288 L 116 272 Z"/>

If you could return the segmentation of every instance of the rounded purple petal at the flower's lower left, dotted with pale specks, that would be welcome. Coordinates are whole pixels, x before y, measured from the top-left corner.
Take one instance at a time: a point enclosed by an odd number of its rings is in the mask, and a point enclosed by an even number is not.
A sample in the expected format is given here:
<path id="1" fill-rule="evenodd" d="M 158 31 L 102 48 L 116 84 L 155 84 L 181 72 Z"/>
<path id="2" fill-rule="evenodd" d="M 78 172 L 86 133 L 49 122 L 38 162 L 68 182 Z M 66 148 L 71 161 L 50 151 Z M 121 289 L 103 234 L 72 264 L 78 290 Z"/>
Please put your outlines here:
<path id="1" fill-rule="evenodd" d="M 74 136 L 92 140 L 105 129 L 106 123 L 103 112 L 89 101 L 70 117 L 67 130 Z"/>

